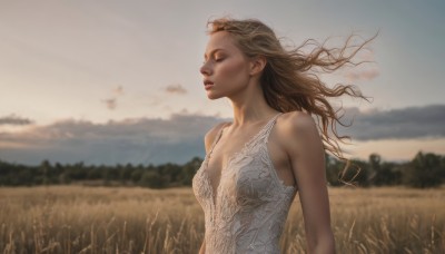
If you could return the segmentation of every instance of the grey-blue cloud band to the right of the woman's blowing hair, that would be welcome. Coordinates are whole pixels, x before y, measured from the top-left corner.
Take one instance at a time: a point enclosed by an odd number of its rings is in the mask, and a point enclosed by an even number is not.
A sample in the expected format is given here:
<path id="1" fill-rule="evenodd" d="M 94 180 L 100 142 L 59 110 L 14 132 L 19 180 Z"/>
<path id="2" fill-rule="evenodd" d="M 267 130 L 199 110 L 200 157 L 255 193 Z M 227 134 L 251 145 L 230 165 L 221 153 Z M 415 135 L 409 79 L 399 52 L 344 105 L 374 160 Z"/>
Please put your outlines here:
<path id="1" fill-rule="evenodd" d="M 445 105 L 407 107 L 392 110 L 362 113 L 356 108 L 346 109 L 345 124 L 338 126 L 340 134 L 358 140 L 409 139 L 445 137 Z"/>

